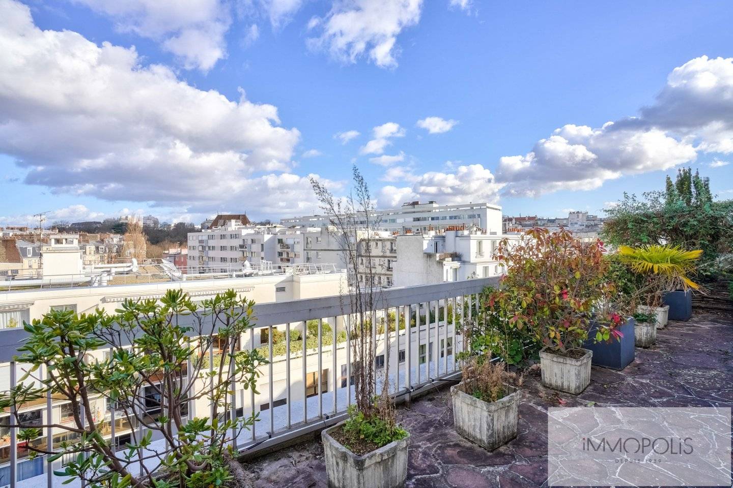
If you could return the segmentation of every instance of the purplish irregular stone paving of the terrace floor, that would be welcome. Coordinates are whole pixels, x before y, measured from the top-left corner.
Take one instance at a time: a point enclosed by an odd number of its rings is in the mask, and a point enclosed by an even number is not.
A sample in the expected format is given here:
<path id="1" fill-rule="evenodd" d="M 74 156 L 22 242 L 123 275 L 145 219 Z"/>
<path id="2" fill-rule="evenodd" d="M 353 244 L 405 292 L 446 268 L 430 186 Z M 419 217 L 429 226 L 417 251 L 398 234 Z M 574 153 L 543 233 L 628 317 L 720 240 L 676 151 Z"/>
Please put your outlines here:
<path id="1" fill-rule="evenodd" d="M 671 321 L 648 350 L 622 372 L 593 367 L 592 381 L 575 397 L 525 383 L 518 434 L 487 452 L 453 429 L 447 388 L 399 408 L 410 432 L 406 487 L 542 487 L 547 485 L 547 408 L 596 406 L 733 406 L 733 318 L 696 314 Z M 254 487 L 328 487 L 323 447 L 312 440 L 250 462 Z"/>

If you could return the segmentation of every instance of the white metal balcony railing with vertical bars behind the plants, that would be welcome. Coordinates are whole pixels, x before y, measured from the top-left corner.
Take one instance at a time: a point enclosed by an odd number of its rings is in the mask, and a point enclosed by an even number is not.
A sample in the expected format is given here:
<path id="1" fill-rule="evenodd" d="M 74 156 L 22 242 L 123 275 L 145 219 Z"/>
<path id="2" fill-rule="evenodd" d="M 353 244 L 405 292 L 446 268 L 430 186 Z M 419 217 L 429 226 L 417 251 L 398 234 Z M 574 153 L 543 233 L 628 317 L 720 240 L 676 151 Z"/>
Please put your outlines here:
<path id="1" fill-rule="evenodd" d="M 378 376 L 375 391 L 381 390 L 383 378 L 386 378 L 390 393 L 399 402 L 446 380 L 458 378 L 460 370 L 454 358 L 464 348 L 460 324 L 476 316 L 477 293 L 487 285 L 498 285 L 498 279 L 379 290 L 375 307 L 369 311 L 371 323 L 375 324 L 371 337 L 375 344 Z M 347 407 L 352 405 L 355 397 L 351 384 L 354 346 L 347 339 L 353 331 L 354 311 L 343 300 L 343 297 L 332 296 L 255 305 L 256 325 L 240 337 L 240 343 L 243 349 L 263 348 L 269 364 L 260 367 L 259 394 L 251 389 L 245 391 L 239 385 L 233 386 L 232 398 L 236 400 L 232 413 L 248 416 L 259 412 L 259 421 L 254 428 L 232 441 L 232 447 L 240 454 L 272 448 L 345 418 Z M 179 320 L 185 322 L 191 318 L 181 317 Z M 312 320 L 316 324 L 316 334 L 312 336 L 316 341 L 314 347 L 309 345 L 306 337 L 308 323 Z M 261 333 L 263 329 L 267 331 L 266 336 Z M 284 331 L 283 342 L 270 342 L 275 329 Z M 302 344 L 291 340 L 293 331 L 301 332 Z M 26 370 L 14 358 L 18 345 L 26 337 L 26 331 L 21 328 L 0 330 L 0 366 L 9 367 L 11 388 Z M 260 345 L 256 340 L 258 337 L 268 340 Z M 202 351 L 209 356 L 210 369 L 216 354 L 213 347 Z M 45 405 L 21 411 L 40 410 L 42 418 L 48 419 L 54 418 L 54 408 L 58 407 L 59 403 L 48 397 Z M 114 405 L 109 408 L 110 424 L 115 426 Z M 193 416 L 196 416 L 195 409 L 196 405 L 191 405 L 189 411 Z M 207 410 L 199 408 L 199 416 Z M 127 427 L 144 433 L 141 426 Z M 120 429 L 116 432 L 112 427 L 103 435 L 123 444 L 121 439 L 129 430 Z M 7 453 L 4 459 L 0 459 L 0 470 L 9 474 L 3 483 L 10 484 L 11 488 L 19 486 L 21 481 L 24 481 L 24 486 L 28 481 L 34 486 L 45 484 L 47 488 L 59 484 L 58 478 L 54 480 L 53 471 L 61 468 L 64 459 L 50 463 L 44 458 L 43 474 L 21 479 L 34 471 L 18 467 L 30 460 L 23 458 L 27 450 L 19 445 L 16 431 L 17 428 L 10 428 L 9 449 L 0 451 Z M 53 427 L 45 427 L 43 442 L 46 445 L 54 443 L 54 435 L 59 435 L 59 432 Z M 163 446 L 164 442 L 154 438 L 151 449 Z M 31 468 L 40 469 L 37 465 Z"/>

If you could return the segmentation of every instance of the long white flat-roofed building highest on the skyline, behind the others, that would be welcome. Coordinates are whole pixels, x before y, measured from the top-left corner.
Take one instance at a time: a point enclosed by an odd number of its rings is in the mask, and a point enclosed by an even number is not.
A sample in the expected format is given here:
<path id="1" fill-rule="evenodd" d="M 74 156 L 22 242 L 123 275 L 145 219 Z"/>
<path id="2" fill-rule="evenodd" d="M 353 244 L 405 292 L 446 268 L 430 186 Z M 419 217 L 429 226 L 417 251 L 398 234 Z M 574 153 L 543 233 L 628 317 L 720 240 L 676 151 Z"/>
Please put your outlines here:
<path id="1" fill-rule="evenodd" d="M 408 202 L 399 209 L 375 211 L 372 219 L 378 222 L 375 228 L 399 233 L 426 233 L 459 225 L 476 225 L 489 233 L 501 233 L 501 206 L 490 203 L 441 206 L 434 201 Z M 326 215 L 308 215 L 281 219 L 280 223 L 285 227 L 323 227 L 330 225 L 331 220 Z"/>

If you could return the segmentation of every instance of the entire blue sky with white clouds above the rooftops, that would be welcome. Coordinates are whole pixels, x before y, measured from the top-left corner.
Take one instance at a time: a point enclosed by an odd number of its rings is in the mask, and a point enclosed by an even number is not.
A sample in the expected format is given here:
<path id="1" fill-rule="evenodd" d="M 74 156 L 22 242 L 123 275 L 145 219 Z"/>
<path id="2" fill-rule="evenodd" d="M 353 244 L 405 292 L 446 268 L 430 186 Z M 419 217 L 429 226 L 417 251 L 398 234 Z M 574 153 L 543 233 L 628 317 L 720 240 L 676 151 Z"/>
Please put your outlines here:
<path id="1" fill-rule="evenodd" d="M 733 196 L 733 4 L 0 0 L 0 225 Z"/>

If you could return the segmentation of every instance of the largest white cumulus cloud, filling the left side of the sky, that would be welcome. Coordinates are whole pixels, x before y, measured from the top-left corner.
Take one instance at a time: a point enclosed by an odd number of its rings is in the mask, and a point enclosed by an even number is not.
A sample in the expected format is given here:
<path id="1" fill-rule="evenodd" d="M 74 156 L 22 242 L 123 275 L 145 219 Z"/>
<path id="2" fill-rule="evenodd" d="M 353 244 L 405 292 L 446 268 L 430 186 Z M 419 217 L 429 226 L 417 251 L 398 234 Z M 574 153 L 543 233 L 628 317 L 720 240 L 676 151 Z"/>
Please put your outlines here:
<path id="1" fill-rule="evenodd" d="M 196 89 L 133 48 L 42 31 L 18 1 L 0 11 L 0 51 L 13 53 L 0 56 L 0 152 L 27 184 L 207 211 L 315 209 L 303 177 L 257 174 L 290 170 L 300 139 L 273 105 Z"/>

